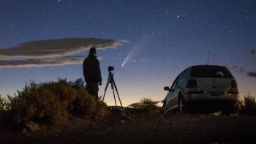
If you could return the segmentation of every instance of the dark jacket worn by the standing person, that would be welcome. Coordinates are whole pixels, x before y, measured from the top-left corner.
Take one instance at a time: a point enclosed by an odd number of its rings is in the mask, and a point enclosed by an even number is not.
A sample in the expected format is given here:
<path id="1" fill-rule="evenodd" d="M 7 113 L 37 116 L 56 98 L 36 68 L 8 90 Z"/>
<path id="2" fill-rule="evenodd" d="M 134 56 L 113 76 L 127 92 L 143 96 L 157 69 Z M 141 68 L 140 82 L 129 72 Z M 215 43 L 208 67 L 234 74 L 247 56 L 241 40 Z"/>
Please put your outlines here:
<path id="1" fill-rule="evenodd" d="M 97 56 L 89 55 L 83 61 L 83 76 L 86 83 L 98 83 L 102 81 L 102 75 L 99 68 Z"/>

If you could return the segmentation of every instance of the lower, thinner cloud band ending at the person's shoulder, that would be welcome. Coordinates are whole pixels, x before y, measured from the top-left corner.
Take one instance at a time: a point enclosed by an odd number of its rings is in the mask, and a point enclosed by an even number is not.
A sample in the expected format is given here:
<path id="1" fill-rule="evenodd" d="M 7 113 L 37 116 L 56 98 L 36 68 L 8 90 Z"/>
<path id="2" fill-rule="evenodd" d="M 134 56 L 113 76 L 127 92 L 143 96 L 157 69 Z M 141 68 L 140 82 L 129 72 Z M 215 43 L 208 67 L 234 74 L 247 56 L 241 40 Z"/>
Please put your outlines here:
<path id="1" fill-rule="evenodd" d="M 40 58 L 26 60 L 0 60 L 0 68 L 3 67 L 42 67 L 64 64 L 82 64 L 85 56 L 64 56 L 58 58 Z"/>

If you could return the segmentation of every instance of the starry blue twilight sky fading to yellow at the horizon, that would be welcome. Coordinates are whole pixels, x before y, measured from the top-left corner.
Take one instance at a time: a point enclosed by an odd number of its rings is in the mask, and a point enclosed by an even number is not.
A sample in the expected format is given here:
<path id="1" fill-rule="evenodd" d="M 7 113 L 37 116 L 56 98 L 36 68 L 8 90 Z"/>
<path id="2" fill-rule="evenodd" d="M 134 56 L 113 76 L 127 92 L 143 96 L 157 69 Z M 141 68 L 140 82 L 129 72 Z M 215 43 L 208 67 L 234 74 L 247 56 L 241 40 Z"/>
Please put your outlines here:
<path id="1" fill-rule="evenodd" d="M 255 1 L 0 0 L 1 49 L 48 39 L 114 39 L 97 50 L 104 92 L 108 66 L 125 106 L 142 97 L 162 100 L 176 76 L 192 65 L 224 65 L 241 96 L 256 95 Z M 10 50 L 9 50 L 10 51 Z M 87 49 L 78 51 L 88 55 Z M 121 67 L 122 66 L 122 67 Z M 29 80 L 83 77 L 81 63 L 1 67 L 0 94 L 14 95 Z M 108 89 L 110 91 L 110 89 Z M 106 102 L 113 105 L 113 95 Z"/>

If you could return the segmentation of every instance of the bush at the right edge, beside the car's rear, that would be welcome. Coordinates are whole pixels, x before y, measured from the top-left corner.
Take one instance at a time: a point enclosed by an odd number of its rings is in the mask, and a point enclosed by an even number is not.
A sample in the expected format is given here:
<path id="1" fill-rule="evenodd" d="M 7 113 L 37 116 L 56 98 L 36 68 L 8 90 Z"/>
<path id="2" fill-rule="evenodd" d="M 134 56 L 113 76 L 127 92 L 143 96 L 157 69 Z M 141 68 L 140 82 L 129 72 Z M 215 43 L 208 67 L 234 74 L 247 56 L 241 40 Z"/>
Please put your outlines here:
<path id="1" fill-rule="evenodd" d="M 256 115 L 255 96 L 250 94 L 244 96 L 244 101 L 241 102 L 240 112 L 242 115 Z"/>

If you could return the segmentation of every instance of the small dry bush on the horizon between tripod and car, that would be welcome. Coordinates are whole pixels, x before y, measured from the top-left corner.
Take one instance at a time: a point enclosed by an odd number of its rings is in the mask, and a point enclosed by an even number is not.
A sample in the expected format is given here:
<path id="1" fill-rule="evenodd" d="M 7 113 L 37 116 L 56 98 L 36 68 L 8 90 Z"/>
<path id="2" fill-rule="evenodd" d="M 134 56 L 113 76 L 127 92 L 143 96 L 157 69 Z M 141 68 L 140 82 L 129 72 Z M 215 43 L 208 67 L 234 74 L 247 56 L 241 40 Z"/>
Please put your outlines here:
<path id="1" fill-rule="evenodd" d="M 140 102 L 142 104 L 140 108 L 146 113 L 155 113 L 161 110 L 152 99 L 143 97 L 143 99 L 140 99 Z"/>

